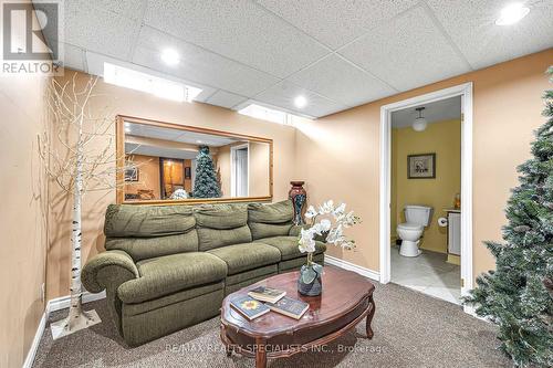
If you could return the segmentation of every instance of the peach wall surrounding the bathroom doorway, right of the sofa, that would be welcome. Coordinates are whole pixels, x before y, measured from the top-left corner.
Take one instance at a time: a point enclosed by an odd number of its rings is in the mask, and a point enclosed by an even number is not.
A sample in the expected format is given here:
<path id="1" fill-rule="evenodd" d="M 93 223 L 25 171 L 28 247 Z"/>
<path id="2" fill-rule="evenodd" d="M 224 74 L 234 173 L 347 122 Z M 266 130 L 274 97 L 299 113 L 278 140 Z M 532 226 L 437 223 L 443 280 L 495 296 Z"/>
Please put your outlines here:
<path id="1" fill-rule="evenodd" d="M 482 244 L 501 240 L 503 209 L 517 186 L 515 167 L 530 157 L 541 116 L 544 75 L 553 49 L 379 99 L 298 125 L 295 178 L 306 181 L 310 202 L 343 200 L 363 217 L 352 229 L 357 250 L 331 249 L 334 256 L 378 271 L 380 106 L 466 82 L 473 83 L 473 273 L 493 269 Z"/>

